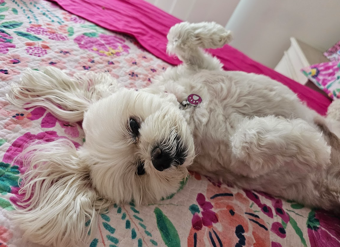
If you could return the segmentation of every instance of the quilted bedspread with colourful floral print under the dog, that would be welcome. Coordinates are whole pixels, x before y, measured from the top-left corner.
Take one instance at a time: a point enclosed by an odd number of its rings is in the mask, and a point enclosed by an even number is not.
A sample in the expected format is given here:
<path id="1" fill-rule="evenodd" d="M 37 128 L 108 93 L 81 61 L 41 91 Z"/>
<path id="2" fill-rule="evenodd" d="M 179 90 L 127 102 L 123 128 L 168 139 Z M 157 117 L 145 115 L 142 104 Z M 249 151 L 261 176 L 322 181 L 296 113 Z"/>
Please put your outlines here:
<path id="1" fill-rule="evenodd" d="M 128 88 L 152 83 L 170 65 L 129 36 L 109 32 L 47 1 L 0 0 L 0 245 L 33 247 L 8 214 L 18 201 L 23 168 L 13 159 L 27 142 L 71 139 L 83 144 L 76 123 L 43 108 L 18 109 L 5 95 L 25 68 L 54 66 L 73 75 L 106 71 Z M 270 195 L 214 183 L 192 173 L 171 198 L 136 207 L 113 205 L 99 216 L 88 247 L 340 246 L 340 220 Z"/>

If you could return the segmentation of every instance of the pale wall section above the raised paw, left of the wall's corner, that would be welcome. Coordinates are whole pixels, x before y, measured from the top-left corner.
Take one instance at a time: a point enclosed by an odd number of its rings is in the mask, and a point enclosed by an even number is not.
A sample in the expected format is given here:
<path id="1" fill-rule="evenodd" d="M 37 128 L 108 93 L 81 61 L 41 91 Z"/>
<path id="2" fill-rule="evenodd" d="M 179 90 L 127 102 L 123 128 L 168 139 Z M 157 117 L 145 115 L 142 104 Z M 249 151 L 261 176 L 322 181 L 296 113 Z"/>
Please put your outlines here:
<path id="1" fill-rule="evenodd" d="M 147 0 L 171 15 L 190 22 L 216 21 L 225 25 L 239 0 Z"/>

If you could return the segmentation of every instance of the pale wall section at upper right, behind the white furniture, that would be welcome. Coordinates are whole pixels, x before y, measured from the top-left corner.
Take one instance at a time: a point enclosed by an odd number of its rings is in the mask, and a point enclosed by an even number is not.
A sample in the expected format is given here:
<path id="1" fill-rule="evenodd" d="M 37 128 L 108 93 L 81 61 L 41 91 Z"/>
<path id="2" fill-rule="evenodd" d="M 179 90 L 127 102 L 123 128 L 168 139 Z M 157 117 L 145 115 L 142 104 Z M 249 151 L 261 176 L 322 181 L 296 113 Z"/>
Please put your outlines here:
<path id="1" fill-rule="evenodd" d="M 289 37 L 325 51 L 340 39 L 339 0 L 241 0 L 229 19 L 231 43 L 251 58 L 275 67 Z"/>

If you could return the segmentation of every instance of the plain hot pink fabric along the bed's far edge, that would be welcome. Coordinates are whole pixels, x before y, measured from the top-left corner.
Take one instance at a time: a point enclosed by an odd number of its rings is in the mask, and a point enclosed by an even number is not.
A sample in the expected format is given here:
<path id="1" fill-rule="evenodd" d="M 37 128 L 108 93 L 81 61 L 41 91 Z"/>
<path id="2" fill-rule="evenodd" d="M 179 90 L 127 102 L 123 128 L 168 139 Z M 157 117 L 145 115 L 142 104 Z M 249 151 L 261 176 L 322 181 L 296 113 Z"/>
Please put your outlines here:
<path id="1" fill-rule="evenodd" d="M 167 33 L 180 19 L 165 13 L 143 0 L 50 0 L 65 10 L 96 23 L 108 30 L 134 36 L 149 52 L 177 65 L 178 59 L 166 54 Z M 232 46 L 209 50 L 224 64 L 225 70 L 264 74 L 293 90 L 308 106 L 324 115 L 330 100 L 322 94 L 252 60 Z"/>

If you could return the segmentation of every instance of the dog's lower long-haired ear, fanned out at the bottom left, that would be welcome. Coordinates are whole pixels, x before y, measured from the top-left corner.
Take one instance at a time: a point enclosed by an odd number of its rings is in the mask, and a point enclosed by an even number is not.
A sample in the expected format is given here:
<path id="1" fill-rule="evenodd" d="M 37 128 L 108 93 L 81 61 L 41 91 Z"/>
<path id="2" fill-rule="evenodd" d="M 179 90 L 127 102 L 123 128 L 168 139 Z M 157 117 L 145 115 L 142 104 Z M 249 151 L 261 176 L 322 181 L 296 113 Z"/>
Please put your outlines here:
<path id="1" fill-rule="evenodd" d="M 111 205 L 91 185 L 89 168 L 67 139 L 35 144 L 21 158 L 28 170 L 21 177 L 22 195 L 11 218 L 23 237 L 38 244 L 80 246 L 86 226 L 94 232 L 98 213 Z M 82 245 L 81 245 L 82 246 Z"/>

